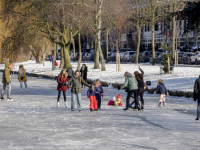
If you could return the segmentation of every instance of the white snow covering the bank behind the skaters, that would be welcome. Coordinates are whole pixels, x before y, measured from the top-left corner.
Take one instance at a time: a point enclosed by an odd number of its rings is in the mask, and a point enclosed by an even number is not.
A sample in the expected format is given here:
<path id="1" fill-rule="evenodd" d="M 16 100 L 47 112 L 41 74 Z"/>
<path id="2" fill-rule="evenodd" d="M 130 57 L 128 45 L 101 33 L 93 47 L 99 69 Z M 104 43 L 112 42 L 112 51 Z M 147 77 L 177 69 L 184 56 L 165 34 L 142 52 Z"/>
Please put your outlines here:
<path id="1" fill-rule="evenodd" d="M 116 65 L 114 63 L 106 64 L 106 71 L 104 72 L 102 72 L 100 69 L 93 69 L 93 62 L 83 63 L 88 66 L 89 79 L 100 79 L 109 83 L 123 83 L 125 81 L 125 71 L 129 71 L 131 73 L 134 71 L 139 71 L 138 65 L 132 63 L 121 64 L 121 72 L 116 72 Z M 14 65 L 18 69 L 20 64 L 24 64 L 27 72 L 34 72 L 38 74 L 50 75 L 53 73 L 54 75 L 57 75 L 61 70 L 57 68 L 56 71 L 51 71 L 51 63 L 49 61 L 46 61 L 45 66 L 42 64 L 36 64 L 35 61 L 15 63 Z M 156 66 L 152 66 L 149 63 L 142 63 L 139 65 L 145 72 L 145 81 L 152 81 L 152 88 L 157 86 L 158 79 L 163 79 L 165 81 L 166 87 L 169 90 L 193 91 L 195 79 L 200 75 L 200 66 L 198 65 L 179 65 L 179 67 L 174 68 L 174 71 L 171 75 L 160 74 L 160 65 L 158 64 L 156 64 Z M 72 66 L 73 69 L 76 70 L 77 62 L 72 62 Z M 4 65 L 1 64 L 0 68 L 4 68 Z"/>

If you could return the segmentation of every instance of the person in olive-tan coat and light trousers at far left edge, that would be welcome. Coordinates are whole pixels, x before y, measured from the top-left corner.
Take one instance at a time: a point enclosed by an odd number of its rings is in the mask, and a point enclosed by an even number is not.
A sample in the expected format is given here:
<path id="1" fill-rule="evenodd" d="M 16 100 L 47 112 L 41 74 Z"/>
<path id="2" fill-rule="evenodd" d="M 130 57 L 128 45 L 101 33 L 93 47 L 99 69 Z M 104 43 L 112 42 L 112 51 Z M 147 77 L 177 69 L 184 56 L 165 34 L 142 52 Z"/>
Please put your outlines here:
<path id="1" fill-rule="evenodd" d="M 3 89 L 2 89 L 2 92 L 1 92 L 1 98 L 0 99 L 4 100 L 3 94 L 4 94 L 4 91 L 7 87 L 8 88 L 7 100 L 12 101 L 13 99 L 10 97 L 11 81 L 10 81 L 10 72 L 9 72 L 9 63 L 8 62 L 5 63 L 5 69 L 3 71 L 2 83 L 3 83 Z"/>

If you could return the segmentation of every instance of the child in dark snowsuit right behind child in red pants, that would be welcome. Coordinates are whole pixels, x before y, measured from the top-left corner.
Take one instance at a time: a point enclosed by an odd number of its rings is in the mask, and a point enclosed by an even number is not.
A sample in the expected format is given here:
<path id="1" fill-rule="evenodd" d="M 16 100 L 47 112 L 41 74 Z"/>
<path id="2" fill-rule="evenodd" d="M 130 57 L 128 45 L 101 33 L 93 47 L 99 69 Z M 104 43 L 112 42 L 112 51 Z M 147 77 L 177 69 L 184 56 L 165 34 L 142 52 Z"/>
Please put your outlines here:
<path id="1" fill-rule="evenodd" d="M 101 85 L 101 82 L 99 79 L 96 80 L 97 82 L 97 92 L 95 94 L 96 100 L 97 100 L 97 107 L 98 109 L 101 109 L 101 97 L 103 97 L 103 86 Z"/>

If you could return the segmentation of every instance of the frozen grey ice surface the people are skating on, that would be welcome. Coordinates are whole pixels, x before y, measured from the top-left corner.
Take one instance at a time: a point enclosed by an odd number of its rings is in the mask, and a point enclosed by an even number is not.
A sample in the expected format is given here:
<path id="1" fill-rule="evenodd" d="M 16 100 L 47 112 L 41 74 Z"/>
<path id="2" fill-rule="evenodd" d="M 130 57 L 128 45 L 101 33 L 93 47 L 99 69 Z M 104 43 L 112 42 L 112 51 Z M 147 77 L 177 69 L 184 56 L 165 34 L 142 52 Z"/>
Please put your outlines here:
<path id="1" fill-rule="evenodd" d="M 192 99 L 167 97 L 167 107 L 160 109 L 158 95 L 145 94 L 144 111 L 124 112 L 124 107 L 110 107 L 107 103 L 119 92 L 125 101 L 126 93 L 104 88 L 102 110 L 89 112 L 87 89 L 83 89 L 79 113 L 64 108 L 63 98 L 61 107 L 55 107 L 55 81 L 28 80 L 28 93 L 20 92 L 14 78 L 14 101 L 0 101 L 0 149 L 200 149 L 200 122 L 195 121 Z M 67 91 L 68 105 L 70 97 Z"/>

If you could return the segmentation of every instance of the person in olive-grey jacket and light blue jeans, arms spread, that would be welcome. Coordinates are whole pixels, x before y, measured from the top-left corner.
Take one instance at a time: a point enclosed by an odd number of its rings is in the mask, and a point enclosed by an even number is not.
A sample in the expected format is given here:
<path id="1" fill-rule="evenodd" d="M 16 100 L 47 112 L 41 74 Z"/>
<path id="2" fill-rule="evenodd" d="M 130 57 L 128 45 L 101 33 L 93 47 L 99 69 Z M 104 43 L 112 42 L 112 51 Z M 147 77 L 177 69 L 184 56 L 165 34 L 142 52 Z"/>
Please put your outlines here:
<path id="1" fill-rule="evenodd" d="M 66 84 L 70 83 L 73 83 L 71 88 L 71 110 L 74 111 L 75 99 L 77 99 L 78 110 L 81 112 L 81 83 L 88 87 L 90 87 L 90 85 L 87 84 L 83 78 L 81 78 L 79 70 L 76 70 L 74 76 L 66 82 Z"/>

